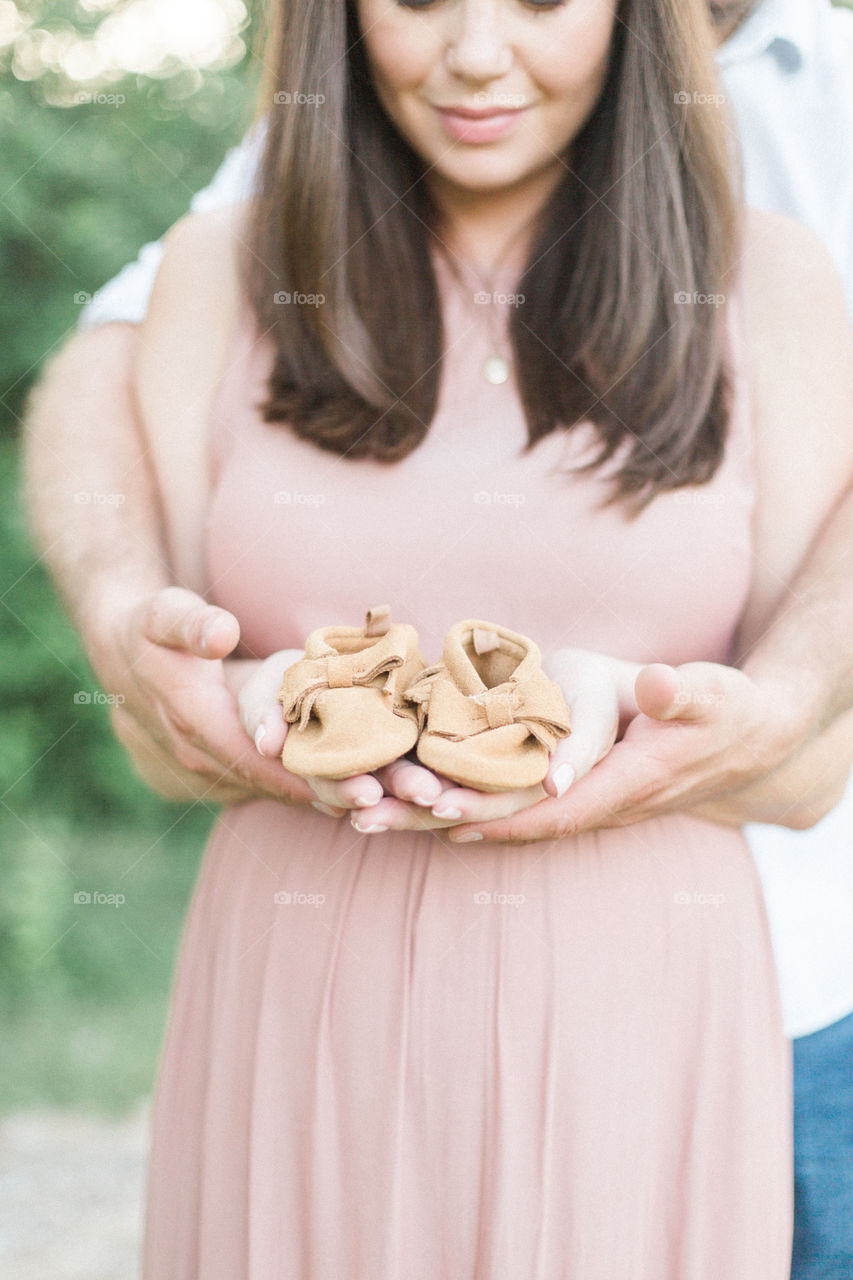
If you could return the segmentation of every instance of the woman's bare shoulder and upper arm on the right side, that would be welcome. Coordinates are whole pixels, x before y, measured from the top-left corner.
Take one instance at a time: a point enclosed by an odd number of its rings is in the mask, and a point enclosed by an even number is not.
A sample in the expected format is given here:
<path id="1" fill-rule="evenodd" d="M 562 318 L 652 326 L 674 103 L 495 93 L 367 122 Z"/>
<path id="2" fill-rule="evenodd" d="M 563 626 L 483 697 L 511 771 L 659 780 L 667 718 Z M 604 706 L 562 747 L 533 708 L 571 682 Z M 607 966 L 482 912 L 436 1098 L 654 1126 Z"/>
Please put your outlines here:
<path id="1" fill-rule="evenodd" d="M 740 289 L 757 489 L 752 641 L 853 476 L 853 328 L 829 251 L 780 214 L 749 211 Z"/>

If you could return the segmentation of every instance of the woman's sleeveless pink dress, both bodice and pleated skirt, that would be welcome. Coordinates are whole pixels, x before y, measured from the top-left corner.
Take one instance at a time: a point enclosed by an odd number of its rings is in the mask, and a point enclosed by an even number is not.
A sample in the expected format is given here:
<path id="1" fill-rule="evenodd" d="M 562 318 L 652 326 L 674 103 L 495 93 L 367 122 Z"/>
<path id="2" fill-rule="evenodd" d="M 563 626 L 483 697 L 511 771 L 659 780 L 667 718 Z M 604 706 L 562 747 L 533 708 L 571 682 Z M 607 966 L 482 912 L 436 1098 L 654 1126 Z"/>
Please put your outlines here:
<path id="1" fill-rule="evenodd" d="M 211 595 L 245 654 L 388 602 L 428 660 L 483 617 L 543 649 L 726 662 L 751 579 L 739 375 L 724 466 L 635 522 L 520 456 L 459 291 L 424 444 L 348 461 L 215 413 Z M 507 283 L 511 283 L 507 280 Z M 743 349 L 731 307 L 736 355 Z M 562 472 L 558 474 L 558 468 Z M 786 1280 L 789 1047 L 738 831 L 674 815 L 508 847 L 225 809 L 186 920 L 152 1119 L 145 1280 Z"/>

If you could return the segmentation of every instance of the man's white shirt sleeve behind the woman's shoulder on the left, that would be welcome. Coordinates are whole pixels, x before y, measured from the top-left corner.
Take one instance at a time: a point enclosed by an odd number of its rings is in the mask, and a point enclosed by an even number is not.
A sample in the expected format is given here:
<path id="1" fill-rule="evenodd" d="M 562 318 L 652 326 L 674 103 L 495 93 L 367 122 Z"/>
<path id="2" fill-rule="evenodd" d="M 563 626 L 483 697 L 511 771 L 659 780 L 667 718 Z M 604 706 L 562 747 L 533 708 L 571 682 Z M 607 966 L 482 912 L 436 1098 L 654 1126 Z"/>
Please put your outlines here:
<path id="1" fill-rule="evenodd" d="M 236 205 L 252 196 L 263 134 L 263 124 L 256 125 L 240 146 L 232 147 L 213 180 L 192 197 L 191 212 L 206 214 L 211 209 Z M 141 324 L 149 308 L 149 298 L 161 259 L 161 239 L 143 244 L 137 259 L 128 262 L 88 301 L 81 314 L 78 328 L 95 329 L 111 321 Z"/>

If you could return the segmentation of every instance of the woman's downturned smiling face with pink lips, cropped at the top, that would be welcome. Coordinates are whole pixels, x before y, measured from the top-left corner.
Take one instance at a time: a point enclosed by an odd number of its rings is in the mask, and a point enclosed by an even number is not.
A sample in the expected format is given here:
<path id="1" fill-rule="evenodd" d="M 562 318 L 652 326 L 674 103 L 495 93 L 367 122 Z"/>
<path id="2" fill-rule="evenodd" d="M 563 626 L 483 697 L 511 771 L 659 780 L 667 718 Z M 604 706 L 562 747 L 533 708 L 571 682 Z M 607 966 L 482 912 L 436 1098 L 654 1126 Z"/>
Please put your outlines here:
<path id="1" fill-rule="evenodd" d="M 434 178 L 494 192 L 549 168 L 601 93 L 617 0 L 357 0 L 387 114 Z"/>

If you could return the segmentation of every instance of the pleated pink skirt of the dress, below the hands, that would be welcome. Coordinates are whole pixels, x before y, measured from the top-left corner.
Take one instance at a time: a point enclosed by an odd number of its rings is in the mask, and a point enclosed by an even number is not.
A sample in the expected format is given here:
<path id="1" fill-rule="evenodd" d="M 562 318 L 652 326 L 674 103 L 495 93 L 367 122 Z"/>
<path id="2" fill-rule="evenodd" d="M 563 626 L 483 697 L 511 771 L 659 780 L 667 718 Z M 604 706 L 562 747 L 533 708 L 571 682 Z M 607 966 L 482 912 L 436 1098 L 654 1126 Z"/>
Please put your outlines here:
<path id="1" fill-rule="evenodd" d="M 225 810 L 174 979 L 145 1280 L 786 1280 L 789 1044 L 739 832 Z"/>

